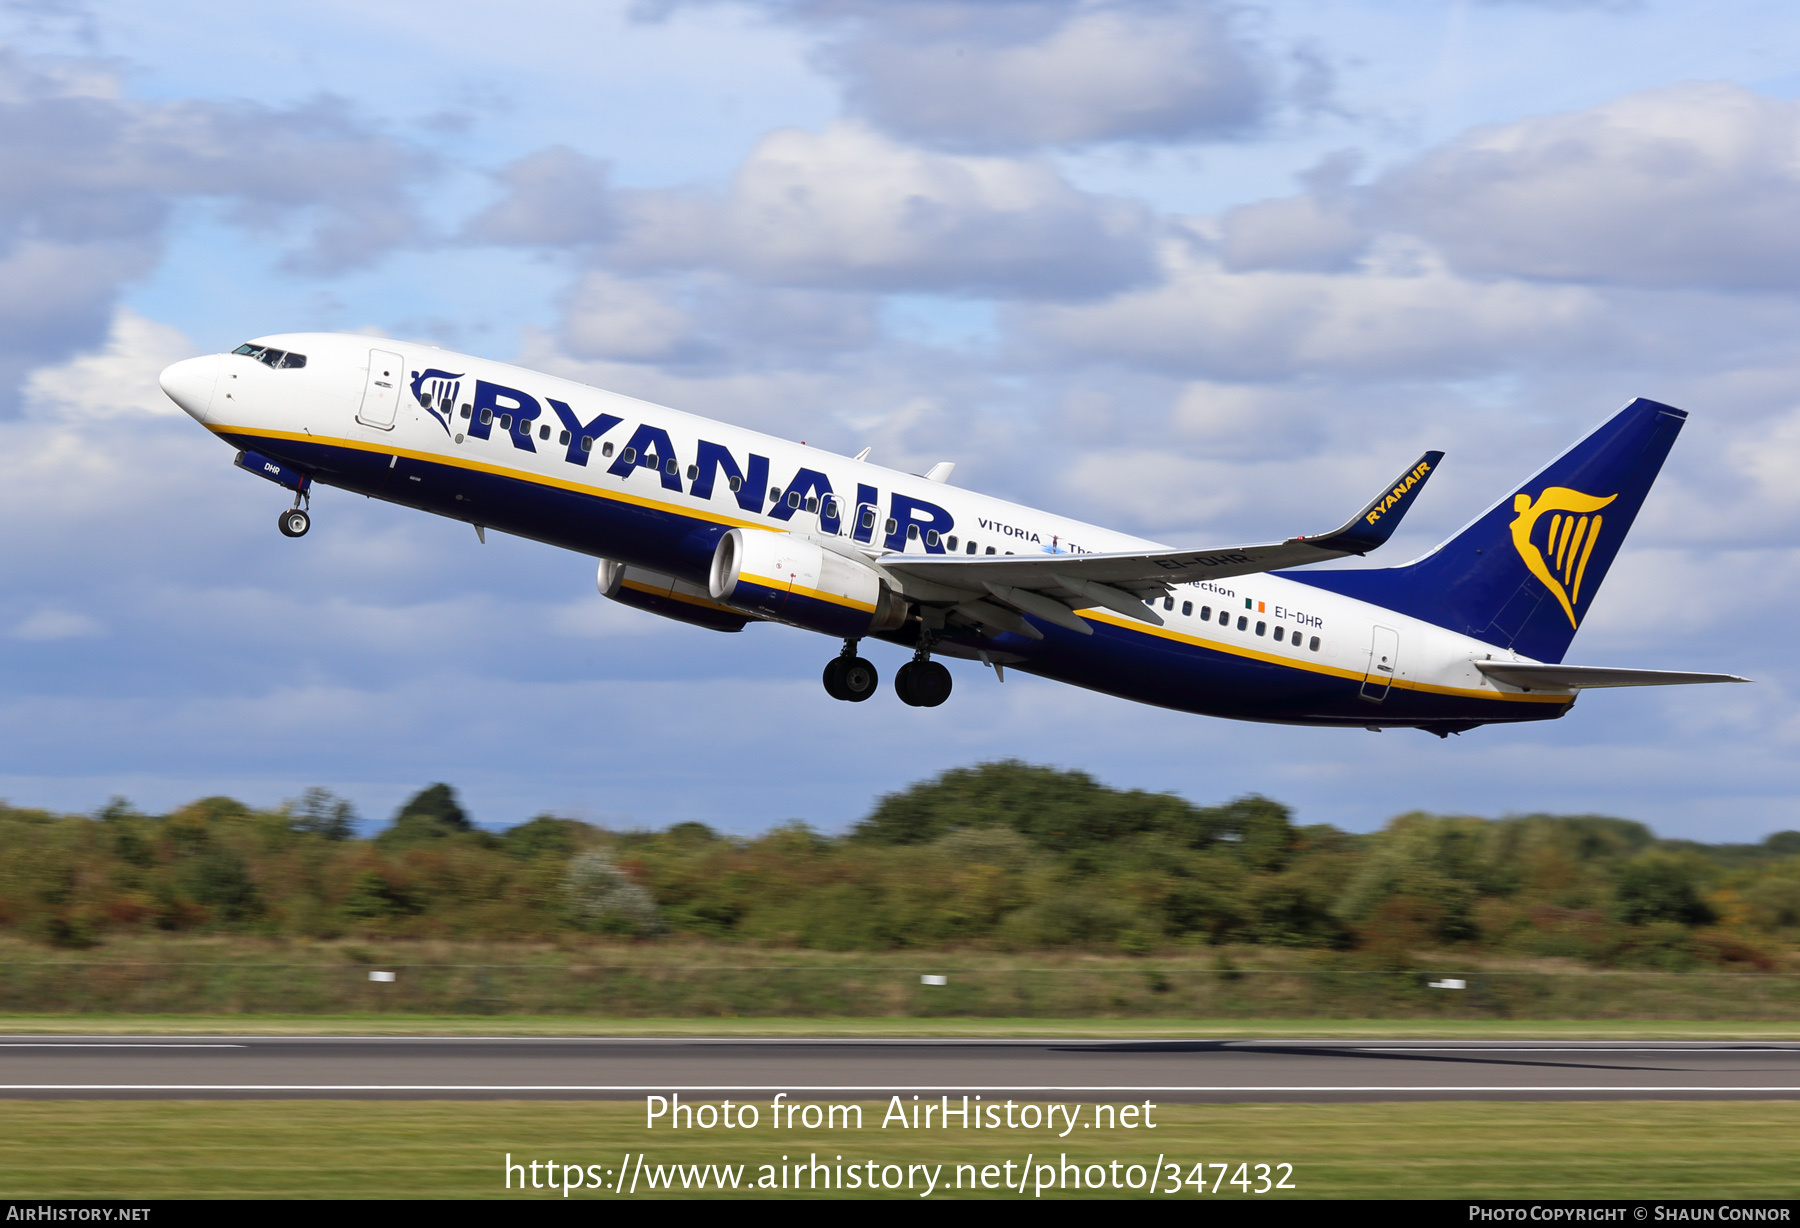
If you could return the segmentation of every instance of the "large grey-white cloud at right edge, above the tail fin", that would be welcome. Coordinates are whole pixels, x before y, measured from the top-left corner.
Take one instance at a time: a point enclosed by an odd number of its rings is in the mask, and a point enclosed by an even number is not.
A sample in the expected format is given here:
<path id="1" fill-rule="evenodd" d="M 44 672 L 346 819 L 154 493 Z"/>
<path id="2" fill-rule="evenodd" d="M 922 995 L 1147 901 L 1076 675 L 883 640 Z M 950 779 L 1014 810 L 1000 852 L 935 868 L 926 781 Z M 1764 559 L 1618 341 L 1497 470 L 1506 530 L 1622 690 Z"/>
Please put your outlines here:
<path id="1" fill-rule="evenodd" d="M 1467 272 L 1791 288 L 1800 103 L 1694 83 L 1478 128 L 1384 176 L 1366 216 Z"/>

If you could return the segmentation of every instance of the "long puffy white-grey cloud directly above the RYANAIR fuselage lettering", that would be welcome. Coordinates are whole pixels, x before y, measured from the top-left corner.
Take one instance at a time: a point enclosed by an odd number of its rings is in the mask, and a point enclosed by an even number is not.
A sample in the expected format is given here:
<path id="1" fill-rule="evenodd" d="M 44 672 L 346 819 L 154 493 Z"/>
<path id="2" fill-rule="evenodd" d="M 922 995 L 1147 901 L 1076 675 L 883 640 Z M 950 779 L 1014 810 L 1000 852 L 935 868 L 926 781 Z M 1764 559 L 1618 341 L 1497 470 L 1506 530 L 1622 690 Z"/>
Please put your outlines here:
<path id="1" fill-rule="evenodd" d="M 538 166 L 545 158 L 554 166 Z M 1152 268 L 1141 205 L 1084 193 L 1044 160 L 932 153 L 855 122 L 770 131 L 725 193 L 598 196 L 598 166 L 576 160 L 545 151 L 509 167 L 511 194 L 472 236 L 598 245 L 616 272 L 713 270 L 859 292 L 1082 297 Z M 590 198 L 565 203 L 571 180 Z"/>

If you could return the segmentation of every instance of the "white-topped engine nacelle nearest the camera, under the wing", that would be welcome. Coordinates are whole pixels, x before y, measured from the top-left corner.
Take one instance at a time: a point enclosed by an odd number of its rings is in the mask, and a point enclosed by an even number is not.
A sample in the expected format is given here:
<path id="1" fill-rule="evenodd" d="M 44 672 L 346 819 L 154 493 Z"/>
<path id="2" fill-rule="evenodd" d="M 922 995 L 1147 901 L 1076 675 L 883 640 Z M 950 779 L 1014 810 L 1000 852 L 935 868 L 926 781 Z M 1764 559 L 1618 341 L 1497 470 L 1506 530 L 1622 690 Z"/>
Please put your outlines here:
<path id="1" fill-rule="evenodd" d="M 707 587 L 715 601 L 844 639 L 905 621 L 905 600 L 875 567 L 794 533 L 731 529 L 713 551 Z"/>

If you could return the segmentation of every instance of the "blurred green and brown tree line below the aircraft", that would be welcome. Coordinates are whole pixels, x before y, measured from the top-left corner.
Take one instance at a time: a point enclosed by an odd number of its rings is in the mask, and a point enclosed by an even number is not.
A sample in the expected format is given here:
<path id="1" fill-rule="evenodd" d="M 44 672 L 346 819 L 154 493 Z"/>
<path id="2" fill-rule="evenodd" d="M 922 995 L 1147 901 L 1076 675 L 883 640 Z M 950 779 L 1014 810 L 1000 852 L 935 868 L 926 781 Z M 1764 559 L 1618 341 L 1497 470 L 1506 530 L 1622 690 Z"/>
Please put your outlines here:
<path id="1" fill-rule="evenodd" d="M 133 933 L 290 938 L 706 938 L 835 951 L 1373 956 L 1462 947 L 1602 965 L 1775 967 L 1800 929 L 1800 832 L 1658 839 L 1604 816 L 1402 814 L 1359 835 L 1262 796 L 1199 807 L 1021 762 L 880 798 L 842 835 L 801 823 L 608 832 L 477 826 L 450 785 L 374 837 L 324 789 L 274 810 L 0 807 L 0 931 L 61 947 Z"/>

